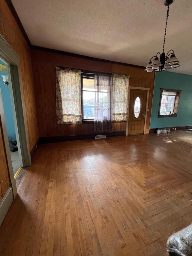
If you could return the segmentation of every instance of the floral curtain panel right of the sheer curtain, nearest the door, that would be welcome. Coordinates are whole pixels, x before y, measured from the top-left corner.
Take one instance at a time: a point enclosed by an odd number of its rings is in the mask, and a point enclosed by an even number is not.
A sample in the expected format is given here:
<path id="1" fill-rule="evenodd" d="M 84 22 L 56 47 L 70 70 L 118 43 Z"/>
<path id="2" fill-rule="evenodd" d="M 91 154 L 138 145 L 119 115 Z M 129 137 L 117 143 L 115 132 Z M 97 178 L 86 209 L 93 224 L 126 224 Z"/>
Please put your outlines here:
<path id="1" fill-rule="evenodd" d="M 125 122 L 128 120 L 128 86 L 129 76 L 118 74 L 113 75 L 113 121 L 115 122 Z"/>

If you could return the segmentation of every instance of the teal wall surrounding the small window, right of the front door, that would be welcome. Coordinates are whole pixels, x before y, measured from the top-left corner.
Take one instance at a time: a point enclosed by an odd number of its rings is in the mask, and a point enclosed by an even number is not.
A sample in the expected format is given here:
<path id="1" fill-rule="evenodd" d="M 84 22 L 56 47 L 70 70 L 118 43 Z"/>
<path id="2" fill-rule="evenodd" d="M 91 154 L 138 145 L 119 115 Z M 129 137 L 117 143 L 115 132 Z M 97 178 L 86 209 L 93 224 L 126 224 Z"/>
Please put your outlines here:
<path id="1" fill-rule="evenodd" d="M 182 90 L 177 117 L 158 118 L 160 88 Z M 156 73 L 150 128 L 185 125 L 192 125 L 192 76 L 165 71 Z"/>

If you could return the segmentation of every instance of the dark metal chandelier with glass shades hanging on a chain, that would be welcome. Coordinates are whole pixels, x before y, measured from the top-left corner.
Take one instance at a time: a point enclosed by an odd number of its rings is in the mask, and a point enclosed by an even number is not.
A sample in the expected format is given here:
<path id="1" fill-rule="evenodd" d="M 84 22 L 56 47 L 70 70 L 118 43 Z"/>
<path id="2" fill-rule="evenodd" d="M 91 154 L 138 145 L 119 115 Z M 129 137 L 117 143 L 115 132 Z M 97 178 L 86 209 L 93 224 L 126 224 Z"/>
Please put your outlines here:
<path id="1" fill-rule="evenodd" d="M 150 59 L 149 64 L 146 66 L 145 71 L 147 72 L 159 72 L 165 71 L 167 68 L 178 68 L 180 67 L 179 61 L 176 58 L 174 51 L 168 51 L 167 55 L 165 56 L 164 49 L 165 49 L 165 37 L 167 32 L 167 20 L 169 17 L 169 7 L 175 0 L 166 0 L 165 5 L 168 6 L 167 8 L 167 19 L 166 19 L 166 26 L 165 26 L 165 34 L 164 34 L 164 42 L 163 42 L 163 53 L 157 53 L 156 56 L 153 56 Z M 155 59 L 153 59 L 155 58 Z M 152 60 L 153 59 L 153 60 Z"/>

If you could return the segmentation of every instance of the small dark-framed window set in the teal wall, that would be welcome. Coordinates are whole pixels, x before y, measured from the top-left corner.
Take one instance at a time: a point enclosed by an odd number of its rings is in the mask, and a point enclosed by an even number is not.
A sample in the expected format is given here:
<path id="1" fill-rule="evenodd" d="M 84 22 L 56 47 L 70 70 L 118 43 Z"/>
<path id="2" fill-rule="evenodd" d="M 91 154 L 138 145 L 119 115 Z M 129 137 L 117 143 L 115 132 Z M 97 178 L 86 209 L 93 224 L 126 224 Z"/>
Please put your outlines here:
<path id="1" fill-rule="evenodd" d="M 161 89 L 158 117 L 177 116 L 181 90 Z"/>

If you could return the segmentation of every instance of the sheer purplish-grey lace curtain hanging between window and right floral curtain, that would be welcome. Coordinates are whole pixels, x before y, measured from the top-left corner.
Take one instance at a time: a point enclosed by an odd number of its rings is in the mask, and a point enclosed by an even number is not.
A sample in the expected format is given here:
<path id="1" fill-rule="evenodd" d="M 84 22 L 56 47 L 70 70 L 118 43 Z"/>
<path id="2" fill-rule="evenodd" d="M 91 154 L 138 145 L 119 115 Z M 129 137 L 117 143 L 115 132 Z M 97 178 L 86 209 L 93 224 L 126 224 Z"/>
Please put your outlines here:
<path id="1" fill-rule="evenodd" d="M 94 131 L 112 130 L 113 122 L 113 75 L 95 74 Z"/>

